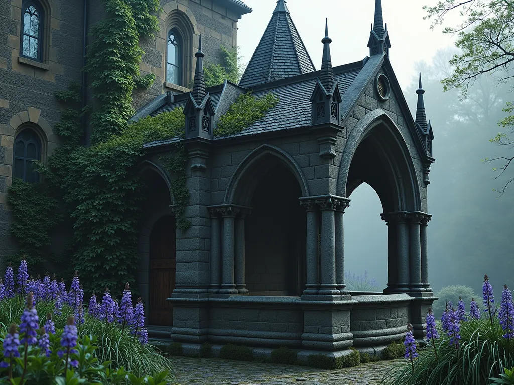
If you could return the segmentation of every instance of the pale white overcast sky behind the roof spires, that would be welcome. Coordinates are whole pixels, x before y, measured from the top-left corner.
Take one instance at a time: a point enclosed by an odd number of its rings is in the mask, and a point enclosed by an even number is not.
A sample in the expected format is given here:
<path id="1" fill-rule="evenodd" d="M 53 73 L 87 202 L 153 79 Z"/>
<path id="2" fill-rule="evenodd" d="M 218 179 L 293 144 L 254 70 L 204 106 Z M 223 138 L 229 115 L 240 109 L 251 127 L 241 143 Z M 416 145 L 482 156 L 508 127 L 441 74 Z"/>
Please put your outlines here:
<path id="1" fill-rule="evenodd" d="M 276 0 L 244 0 L 253 12 L 243 15 L 238 23 L 237 44 L 248 63 L 255 47 L 271 18 Z M 402 88 L 417 72 L 415 63 L 431 61 L 434 53 L 452 44 L 453 38 L 444 35 L 442 28 L 430 30 L 430 21 L 423 20 L 424 5 L 435 0 L 382 0 L 384 22 L 391 39 L 390 60 Z M 375 0 L 288 0 L 287 6 L 300 36 L 307 47 L 316 69 L 321 67 L 328 17 L 329 35 L 332 37 L 332 63 L 334 66 L 352 63 L 369 55 L 367 47 Z"/>

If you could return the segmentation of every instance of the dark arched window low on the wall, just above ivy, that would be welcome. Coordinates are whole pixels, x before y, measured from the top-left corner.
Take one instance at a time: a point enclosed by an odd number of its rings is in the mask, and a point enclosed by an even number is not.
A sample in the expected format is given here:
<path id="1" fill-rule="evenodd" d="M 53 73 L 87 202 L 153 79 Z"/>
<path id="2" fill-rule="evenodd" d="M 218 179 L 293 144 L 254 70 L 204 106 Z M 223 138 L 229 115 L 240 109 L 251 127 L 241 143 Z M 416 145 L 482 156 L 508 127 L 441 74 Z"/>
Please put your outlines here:
<path id="1" fill-rule="evenodd" d="M 38 173 L 33 172 L 35 160 L 40 160 L 41 143 L 36 133 L 27 128 L 18 134 L 14 141 L 12 177 L 24 182 L 38 182 Z"/>

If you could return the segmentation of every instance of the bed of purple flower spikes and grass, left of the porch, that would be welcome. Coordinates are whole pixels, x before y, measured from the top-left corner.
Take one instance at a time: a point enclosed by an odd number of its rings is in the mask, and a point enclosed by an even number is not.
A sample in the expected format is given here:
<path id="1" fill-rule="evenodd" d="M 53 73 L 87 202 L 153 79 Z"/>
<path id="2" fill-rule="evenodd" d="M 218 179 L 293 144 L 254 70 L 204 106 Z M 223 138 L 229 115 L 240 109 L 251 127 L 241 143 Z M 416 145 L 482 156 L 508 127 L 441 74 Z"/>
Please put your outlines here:
<path id="1" fill-rule="evenodd" d="M 28 273 L 25 275 L 24 266 L 22 262 L 21 271 L 26 277 Z M 6 275 L 9 280 L 12 268 Z M 58 284 L 57 279 L 52 281 L 46 276 L 40 281 L 34 286 L 38 287 L 38 301 L 34 301 L 33 292 L 22 296 L 21 293 L 31 287 L 23 286 L 23 281 L 11 287 L 13 293 L 19 294 L 9 295 L 10 298 L 4 295 L 0 300 L 0 341 L 4 340 L 4 354 L 0 355 L 0 368 L 4 370 L 0 371 L 0 383 L 11 378 L 20 383 L 53 385 L 55 376 L 111 383 L 101 377 L 106 370 L 103 362 L 111 371 L 123 368 L 123 373 L 130 372 L 136 377 L 166 371 L 166 380 L 173 380 L 173 374 L 168 372 L 170 362 L 148 343 L 143 304 L 139 299 L 136 306 L 132 306 L 128 286 L 125 286 L 120 310 L 108 290 L 102 301 L 103 307 L 94 296 L 89 304 L 95 309 L 87 309 L 82 305 L 83 288 L 78 275 L 72 279 L 69 291 L 64 281 Z M 86 351 L 89 358 L 84 356 Z M 40 367 L 42 374 L 33 372 L 31 365 L 43 365 Z M 44 365 L 56 368 L 55 373 L 52 372 L 54 377 L 45 372 L 48 368 Z M 92 374 L 84 376 L 85 372 Z"/>

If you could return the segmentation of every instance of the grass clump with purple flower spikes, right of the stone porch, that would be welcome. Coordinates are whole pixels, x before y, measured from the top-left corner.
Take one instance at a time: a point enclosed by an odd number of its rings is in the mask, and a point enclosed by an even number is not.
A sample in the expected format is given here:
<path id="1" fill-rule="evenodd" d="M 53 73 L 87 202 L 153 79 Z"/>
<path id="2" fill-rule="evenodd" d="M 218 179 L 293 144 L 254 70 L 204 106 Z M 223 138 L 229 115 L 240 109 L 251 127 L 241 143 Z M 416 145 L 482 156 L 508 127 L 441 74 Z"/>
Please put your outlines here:
<path id="1" fill-rule="evenodd" d="M 514 304 L 504 286 L 499 311 L 494 307 L 493 288 L 486 276 L 483 303 L 487 317 L 480 317 L 476 301 L 471 300 L 469 315 L 462 317 L 448 303 L 442 316 L 441 331 L 431 311 L 427 314 L 427 342 L 410 362 L 395 365 L 383 383 L 394 385 L 477 385 L 499 382 L 514 368 Z M 435 338 L 435 336 L 439 338 Z M 436 341 L 437 339 L 437 341 Z M 432 343 L 430 343 L 432 341 Z M 407 347 L 407 338 L 406 338 Z M 406 358 L 414 358 L 413 354 Z M 508 377 L 508 376 L 507 376 Z M 495 382 L 491 382 L 495 381 Z"/>

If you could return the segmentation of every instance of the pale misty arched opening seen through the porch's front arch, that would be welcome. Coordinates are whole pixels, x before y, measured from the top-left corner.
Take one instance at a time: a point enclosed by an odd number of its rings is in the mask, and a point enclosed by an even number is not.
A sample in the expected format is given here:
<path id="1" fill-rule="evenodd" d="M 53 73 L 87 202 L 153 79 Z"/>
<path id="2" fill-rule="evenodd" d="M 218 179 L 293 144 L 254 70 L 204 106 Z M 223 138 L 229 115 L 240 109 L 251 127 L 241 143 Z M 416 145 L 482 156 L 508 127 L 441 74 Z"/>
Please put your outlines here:
<path id="1" fill-rule="evenodd" d="M 382 203 L 375 190 L 362 183 L 352 195 L 344 221 L 345 284 L 351 292 L 381 292 L 388 281 L 387 226 L 380 218 Z"/>

